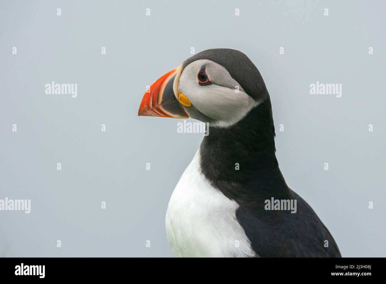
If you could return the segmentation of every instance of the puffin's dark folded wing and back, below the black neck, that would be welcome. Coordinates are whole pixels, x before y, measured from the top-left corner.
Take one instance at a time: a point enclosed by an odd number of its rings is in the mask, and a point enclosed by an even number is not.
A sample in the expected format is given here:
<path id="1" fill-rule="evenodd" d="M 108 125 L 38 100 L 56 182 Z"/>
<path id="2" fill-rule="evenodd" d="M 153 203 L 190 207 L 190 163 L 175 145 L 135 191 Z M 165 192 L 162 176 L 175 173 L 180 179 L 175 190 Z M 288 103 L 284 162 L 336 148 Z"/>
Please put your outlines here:
<path id="1" fill-rule="evenodd" d="M 317 214 L 298 194 L 297 212 L 256 214 L 239 207 L 236 217 L 259 257 L 341 257 L 334 238 Z M 327 242 L 328 241 L 328 247 Z"/>

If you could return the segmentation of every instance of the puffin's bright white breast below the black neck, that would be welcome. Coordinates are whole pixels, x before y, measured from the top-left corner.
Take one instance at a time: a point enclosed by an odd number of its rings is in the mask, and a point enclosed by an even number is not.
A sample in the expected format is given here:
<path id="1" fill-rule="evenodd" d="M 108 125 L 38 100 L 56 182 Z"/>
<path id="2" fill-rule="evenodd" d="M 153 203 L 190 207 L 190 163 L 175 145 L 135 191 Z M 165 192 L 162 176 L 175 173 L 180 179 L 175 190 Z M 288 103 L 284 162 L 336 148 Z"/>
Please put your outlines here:
<path id="1" fill-rule="evenodd" d="M 256 254 L 236 218 L 239 205 L 213 188 L 200 172 L 197 151 L 181 176 L 166 212 L 175 257 L 252 257 Z"/>

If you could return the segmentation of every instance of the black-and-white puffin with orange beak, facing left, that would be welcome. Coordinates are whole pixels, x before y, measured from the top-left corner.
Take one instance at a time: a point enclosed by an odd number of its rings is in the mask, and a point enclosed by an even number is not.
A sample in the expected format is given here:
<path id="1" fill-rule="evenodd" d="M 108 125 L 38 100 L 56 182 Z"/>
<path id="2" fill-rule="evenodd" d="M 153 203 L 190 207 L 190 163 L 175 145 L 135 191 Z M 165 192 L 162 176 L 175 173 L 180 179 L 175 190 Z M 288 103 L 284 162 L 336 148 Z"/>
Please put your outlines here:
<path id="1" fill-rule="evenodd" d="M 326 226 L 284 180 L 269 93 L 244 53 L 219 48 L 191 56 L 146 90 L 138 115 L 191 117 L 210 129 L 168 204 L 174 257 L 341 257 Z"/>

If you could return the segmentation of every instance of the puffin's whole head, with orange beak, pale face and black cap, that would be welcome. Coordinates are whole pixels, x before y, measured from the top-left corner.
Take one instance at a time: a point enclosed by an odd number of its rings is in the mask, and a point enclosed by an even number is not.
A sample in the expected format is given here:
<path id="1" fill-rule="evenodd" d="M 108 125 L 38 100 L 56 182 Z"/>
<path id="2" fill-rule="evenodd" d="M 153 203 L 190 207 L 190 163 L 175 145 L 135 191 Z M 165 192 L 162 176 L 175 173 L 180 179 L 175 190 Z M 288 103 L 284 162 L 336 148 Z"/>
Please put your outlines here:
<path id="1" fill-rule="evenodd" d="M 259 70 L 242 52 L 208 49 L 191 56 L 146 91 L 139 116 L 192 117 L 228 127 L 269 98 Z"/>

